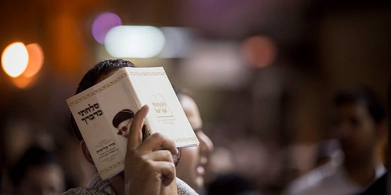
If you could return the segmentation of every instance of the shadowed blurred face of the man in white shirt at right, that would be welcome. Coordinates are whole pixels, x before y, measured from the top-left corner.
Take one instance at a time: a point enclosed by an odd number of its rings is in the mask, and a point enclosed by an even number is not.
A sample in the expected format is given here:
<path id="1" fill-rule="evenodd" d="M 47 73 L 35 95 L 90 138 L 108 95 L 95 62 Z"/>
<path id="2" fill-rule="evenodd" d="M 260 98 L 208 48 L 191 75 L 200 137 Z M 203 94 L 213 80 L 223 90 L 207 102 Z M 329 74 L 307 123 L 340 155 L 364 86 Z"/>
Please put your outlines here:
<path id="1" fill-rule="evenodd" d="M 376 128 L 376 122 L 363 102 L 337 107 L 336 130 L 346 161 L 357 163 L 370 157 L 377 140 Z"/>

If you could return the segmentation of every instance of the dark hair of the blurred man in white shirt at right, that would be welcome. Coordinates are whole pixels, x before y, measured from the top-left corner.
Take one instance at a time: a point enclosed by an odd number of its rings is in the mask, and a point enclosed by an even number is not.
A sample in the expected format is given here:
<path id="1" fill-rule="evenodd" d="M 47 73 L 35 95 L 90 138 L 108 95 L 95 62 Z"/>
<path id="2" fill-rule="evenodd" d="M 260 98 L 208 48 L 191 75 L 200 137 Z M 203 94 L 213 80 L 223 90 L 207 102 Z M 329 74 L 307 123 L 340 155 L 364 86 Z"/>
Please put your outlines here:
<path id="1" fill-rule="evenodd" d="M 336 106 L 358 102 L 363 102 L 365 104 L 370 116 L 376 122 L 381 122 L 385 118 L 386 113 L 383 105 L 376 97 L 376 94 L 369 89 L 363 87 L 345 89 L 340 91 L 334 99 Z"/>

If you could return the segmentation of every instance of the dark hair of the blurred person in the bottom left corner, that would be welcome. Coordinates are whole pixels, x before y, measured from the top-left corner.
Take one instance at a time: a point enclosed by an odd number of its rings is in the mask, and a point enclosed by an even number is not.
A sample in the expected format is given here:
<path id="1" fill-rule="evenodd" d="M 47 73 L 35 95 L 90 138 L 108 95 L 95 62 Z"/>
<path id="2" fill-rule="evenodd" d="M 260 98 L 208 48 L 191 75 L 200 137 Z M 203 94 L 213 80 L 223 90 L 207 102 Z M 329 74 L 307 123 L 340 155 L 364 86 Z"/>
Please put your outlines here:
<path id="1" fill-rule="evenodd" d="M 55 156 L 53 153 L 48 152 L 40 147 L 31 147 L 24 153 L 19 162 L 11 170 L 11 181 L 15 186 L 17 186 L 20 184 L 24 174 L 28 171 L 29 168 L 51 164 L 62 167 L 57 156 Z"/>

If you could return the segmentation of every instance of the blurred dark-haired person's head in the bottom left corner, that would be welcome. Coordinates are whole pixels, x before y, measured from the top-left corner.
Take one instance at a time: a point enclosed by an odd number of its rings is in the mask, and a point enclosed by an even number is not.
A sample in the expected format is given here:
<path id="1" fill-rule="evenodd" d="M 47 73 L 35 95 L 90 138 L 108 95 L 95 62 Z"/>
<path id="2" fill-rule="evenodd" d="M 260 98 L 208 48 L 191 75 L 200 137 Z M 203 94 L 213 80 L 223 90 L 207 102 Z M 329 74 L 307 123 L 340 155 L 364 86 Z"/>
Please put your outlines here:
<path id="1" fill-rule="evenodd" d="M 59 195 L 65 190 L 58 158 L 39 147 L 29 148 L 10 175 L 15 195 Z"/>

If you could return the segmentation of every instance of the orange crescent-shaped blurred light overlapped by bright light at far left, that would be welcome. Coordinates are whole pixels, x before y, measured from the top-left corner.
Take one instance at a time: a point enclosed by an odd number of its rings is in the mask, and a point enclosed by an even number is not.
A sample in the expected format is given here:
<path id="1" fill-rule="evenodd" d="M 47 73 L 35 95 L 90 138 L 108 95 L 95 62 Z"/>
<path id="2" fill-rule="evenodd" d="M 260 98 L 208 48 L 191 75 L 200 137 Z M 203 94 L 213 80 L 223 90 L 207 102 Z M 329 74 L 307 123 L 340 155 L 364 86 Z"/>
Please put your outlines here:
<path id="1" fill-rule="evenodd" d="M 23 76 L 32 77 L 41 70 L 43 65 L 43 50 L 38 43 L 32 43 L 26 45 L 28 52 L 27 68 L 23 72 Z"/>

